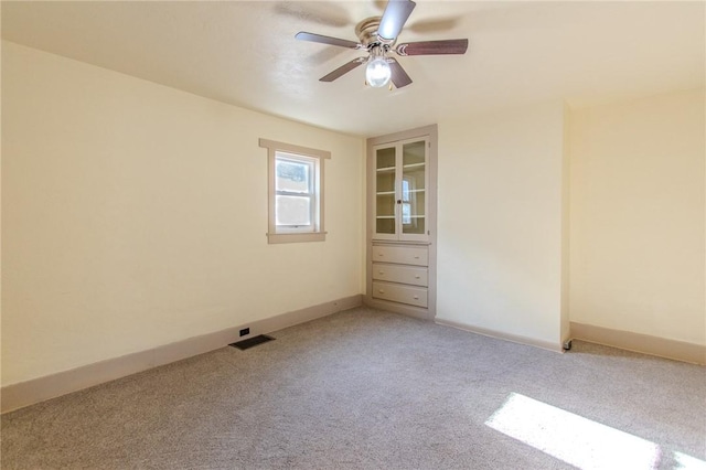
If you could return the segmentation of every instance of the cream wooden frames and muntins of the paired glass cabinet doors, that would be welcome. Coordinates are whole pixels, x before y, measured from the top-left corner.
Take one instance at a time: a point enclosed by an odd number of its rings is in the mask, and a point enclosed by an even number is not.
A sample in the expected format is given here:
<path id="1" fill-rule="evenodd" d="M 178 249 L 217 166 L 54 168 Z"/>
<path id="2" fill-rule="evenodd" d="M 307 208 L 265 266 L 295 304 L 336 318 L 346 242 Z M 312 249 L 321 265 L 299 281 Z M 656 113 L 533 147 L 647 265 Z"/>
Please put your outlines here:
<path id="1" fill-rule="evenodd" d="M 405 158 L 405 146 L 408 146 L 410 143 L 419 143 L 422 142 L 422 148 L 424 148 L 424 162 L 422 163 L 414 163 L 411 165 L 405 165 L 404 163 L 404 158 Z M 378 152 L 381 150 L 393 150 L 393 154 L 394 154 L 394 161 L 395 161 L 395 165 L 393 167 L 385 167 L 385 168 L 379 168 L 377 164 L 377 158 L 378 158 Z M 387 241 L 400 241 L 400 242 L 428 242 L 429 241 L 429 218 L 428 218 L 428 214 L 429 214 L 429 197 L 428 197 L 428 188 L 429 188 L 429 150 L 430 150 L 430 140 L 429 140 L 429 136 L 420 136 L 420 137 L 414 137 L 411 139 L 405 139 L 405 140 L 398 140 L 396 142 L 389 142 L 389 143 L 383 143 L 379 146 L 373 146 L 372 148 L 372 154 L 371 154 L 371 164 L 372 164 L 372 178 L 371 178 L 371 184 L 373 185 L 372 189 L 372 196 L 373 196 L 373 205 L 372 205 L 372 210 L 373 210 L 373 215 L 372 215 L 372 237 L 373 239 L 387 239 Z M 403 210 L 404 210 L 404 196 L 403 196 L 403 183 L 405 181 L 405 170 L 409 169 L 411 167 L 421 167 L 424 168 L 424 189 L 422 190 L 413 190 L 415 191 L 415 196 L 417 196 L 419 194 L 419 192 L 421 192 L 424 194 L 424 204 L 422 204 L 422 212 L 424 215 L 419 216 L 418 212 L 416 212 L 415 214 L 411 214 L 411 217 L 415 218 L 422 218 L 424 220 L 424 231 L 420 234 L 414 234 L 414 233 L 405 233 L 404 232 L 404 214 L 403 214 Z M 377 211 L 379 207 L 378 204 L 378 196 L 379 195 L 389 195 L 389 191 L 379 191 L 379 189 L 377 188 L 377 183 L 379 181 L 379 177 L 381 174 L 389 174 L 392 173 L 394 175 L 394 194 L 393 195 L 393 209 L 394 209 L 394 213 L 393 213 L 393 217 L 395 221 L 395 225 L 394 225 L 394 229 L 395 233 L 393 234 L 388 234 L 388 233 L 378 233 L 377 232 L 377 222 L 381 217 L 389 217 L 389 215 L 378 215 Z M 388 188 L 384 188 L 384 190 L 388 190 Z"/>

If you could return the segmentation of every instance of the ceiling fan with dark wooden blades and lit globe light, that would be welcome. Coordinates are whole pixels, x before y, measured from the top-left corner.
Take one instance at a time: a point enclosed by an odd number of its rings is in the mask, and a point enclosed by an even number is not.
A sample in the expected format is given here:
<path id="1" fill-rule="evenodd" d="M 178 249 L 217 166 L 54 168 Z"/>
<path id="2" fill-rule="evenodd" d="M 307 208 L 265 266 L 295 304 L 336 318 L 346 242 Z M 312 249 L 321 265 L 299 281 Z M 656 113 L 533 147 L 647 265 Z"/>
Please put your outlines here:
<path id="1" fill-rule="evenodd" d="M 361 64 L 367 63 L 365 82 L 373 87 L 383 87 L 391 81 L 397 88 L 411 83 L 411 78 L 394 57 L 389 55 L 437 55 L 466 54 L 468 40 L 421 41 L 396 44 L 405 22 L 417 4 L 411 0 L 389 0 L 382 17 L 367 18 L 355 26 L 359 42 L 299 32 L 295 38 L 340 47 L 367 52 L 367 56 L 357 57 L 319 78 L 320 82 L 333 82 Z M 391 89 L 392 89 L 392 85 Z"/>

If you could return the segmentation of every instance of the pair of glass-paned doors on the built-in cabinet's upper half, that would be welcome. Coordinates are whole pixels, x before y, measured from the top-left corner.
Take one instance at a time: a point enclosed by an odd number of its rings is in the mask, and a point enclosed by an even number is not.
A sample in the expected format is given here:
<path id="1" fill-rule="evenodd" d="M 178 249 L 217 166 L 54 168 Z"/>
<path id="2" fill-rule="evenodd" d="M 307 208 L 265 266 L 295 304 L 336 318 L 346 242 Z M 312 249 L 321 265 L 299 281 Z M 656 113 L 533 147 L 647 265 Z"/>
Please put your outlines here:
<path id="1" fill-rule="evenodd" d="M 427 239 L 427 140 L 375 148 L 375 233 L 378 239 Z"/>

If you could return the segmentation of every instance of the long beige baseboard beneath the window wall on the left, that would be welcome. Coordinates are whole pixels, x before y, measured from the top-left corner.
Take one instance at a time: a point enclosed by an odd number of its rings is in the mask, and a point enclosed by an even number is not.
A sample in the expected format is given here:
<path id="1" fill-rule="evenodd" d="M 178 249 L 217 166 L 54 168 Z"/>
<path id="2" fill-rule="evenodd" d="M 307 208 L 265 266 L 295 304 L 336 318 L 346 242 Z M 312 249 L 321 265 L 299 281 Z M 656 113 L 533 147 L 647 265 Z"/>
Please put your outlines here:
<path id="1" fill-rule="evenodd" d="M 203 354 L 239 340 L 246 340 L 258 334 L 270 333 L 295 324 L 304 323 L 339 311 L 359 307 L 362 303 L 361 295 L 345 297 L 214 333 L 188 338 L 151 350 L 96 362 L 26 382 L 10 384 L 0 388 L 0 413 L 11 412 L 130 374 L 147 371 L 148 368 L 159 365 Z M 250 334 L 240 337 L 239 331 L 243 328 L 249 328 Z"/>

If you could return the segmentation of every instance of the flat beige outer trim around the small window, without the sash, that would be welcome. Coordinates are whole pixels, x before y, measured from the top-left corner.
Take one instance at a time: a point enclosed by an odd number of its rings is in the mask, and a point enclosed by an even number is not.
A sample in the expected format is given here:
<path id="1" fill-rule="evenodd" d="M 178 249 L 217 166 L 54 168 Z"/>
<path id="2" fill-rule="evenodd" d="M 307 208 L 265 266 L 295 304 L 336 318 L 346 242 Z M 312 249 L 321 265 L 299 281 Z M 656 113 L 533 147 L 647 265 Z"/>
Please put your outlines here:
<path id="1" fill-rule="evenodd" d="M 267 231 L 267 243 L 277 244 L 277 243 L 301 243 L 301 242 L 323 242 L 325 241 L 327 232 L 324 231 L 323 225 L 323 214 L 324 214 L 324 167 L 323 161 L 325 159 L 331 158 L 331 152 L 325 150 L 317 150 L 310 149 L 308 147 L 293 146 L 291 143 L 278 142 L 269 139 L 259 139 L 259 146 L 261 148 L 267 149 L 267 192 L 268 192 L 268 231 Z M 282 153 L 291 153 L 293 156 L 302 156 L 312 159 L 318 159 L 318 215 L 319 223 L 314 228 L 314 232 L 291 232 L 285 231 L 280 228 L 278 232 L 277 222 L 275 220 L 275 204 L 276 204 L 276 170 L 275 162 L 277 158 L 277 152 Z"/>

